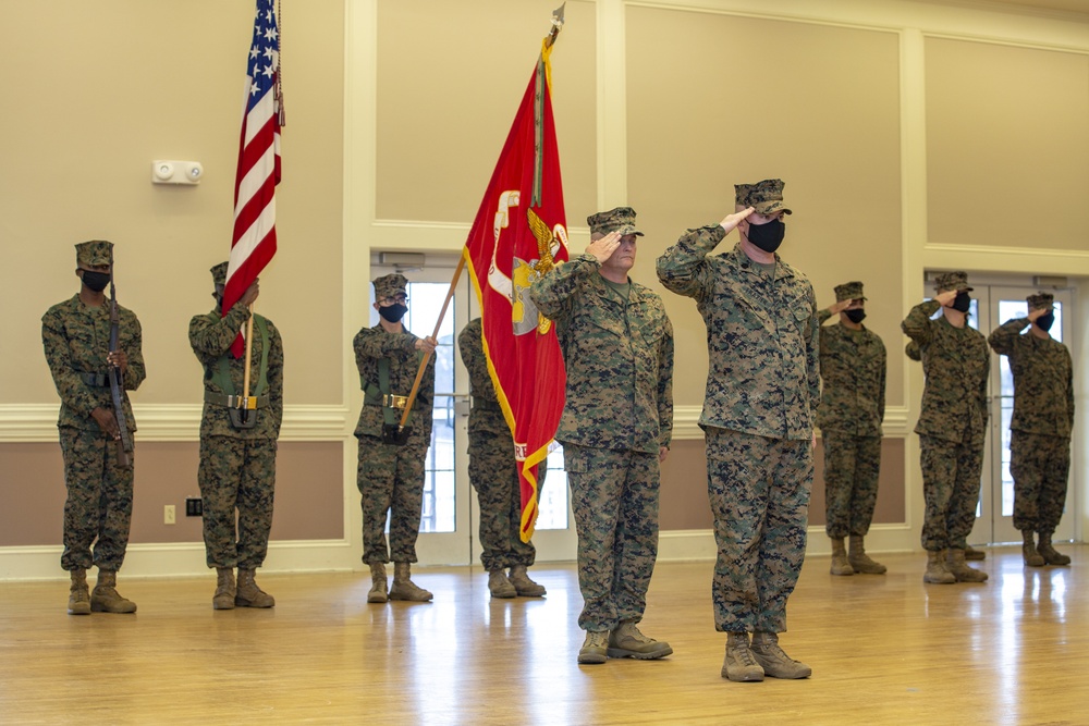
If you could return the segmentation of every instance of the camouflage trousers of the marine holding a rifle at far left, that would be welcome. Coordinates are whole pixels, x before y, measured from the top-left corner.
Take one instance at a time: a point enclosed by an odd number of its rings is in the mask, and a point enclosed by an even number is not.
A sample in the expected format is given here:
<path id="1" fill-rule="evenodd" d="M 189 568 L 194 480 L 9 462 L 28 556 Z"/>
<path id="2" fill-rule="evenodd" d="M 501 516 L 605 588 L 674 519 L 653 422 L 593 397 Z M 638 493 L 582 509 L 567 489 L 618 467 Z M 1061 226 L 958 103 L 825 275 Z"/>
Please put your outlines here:
<path id="1" fill-rule="evenodd" d="M 60 441 L 68 488 L 61 567 L 119 570 L 129 546 L 133 469 L 114 466 L 117 444 L 101 431 L 61 427 Z M 136 452 L 129 457 L 135 465 Z"/>

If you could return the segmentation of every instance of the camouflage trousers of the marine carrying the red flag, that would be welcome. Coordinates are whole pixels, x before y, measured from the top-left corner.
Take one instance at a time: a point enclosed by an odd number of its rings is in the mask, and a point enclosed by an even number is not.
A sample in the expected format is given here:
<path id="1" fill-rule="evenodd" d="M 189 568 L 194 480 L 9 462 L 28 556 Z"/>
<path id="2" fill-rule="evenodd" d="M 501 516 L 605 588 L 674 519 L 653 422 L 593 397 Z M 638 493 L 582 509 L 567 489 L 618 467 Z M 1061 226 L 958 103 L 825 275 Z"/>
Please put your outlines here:
<path id="1" fill-rule="evenodd" d="M 427 448 L 383 444 L 379 436 L 359 436 L 356 484 L 363 504 L 363 562 L 416 562 L 416 537 L 424 509 Z M 386 518 L 390 542 L 386 543 Z"/>

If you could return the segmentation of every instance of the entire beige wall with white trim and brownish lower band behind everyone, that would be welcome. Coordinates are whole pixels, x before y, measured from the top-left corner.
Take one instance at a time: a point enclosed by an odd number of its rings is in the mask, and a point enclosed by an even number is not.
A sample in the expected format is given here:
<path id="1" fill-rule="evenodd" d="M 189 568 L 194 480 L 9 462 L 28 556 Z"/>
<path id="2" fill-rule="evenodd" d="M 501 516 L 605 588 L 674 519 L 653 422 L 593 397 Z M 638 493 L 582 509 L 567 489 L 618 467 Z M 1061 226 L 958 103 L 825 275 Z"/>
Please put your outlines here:
<path id="1" fill-rule="evenodd" d="M 684 229 L 729 212 L 734 183 L 781 176 L 795 210 L 783 257 L 821 304 L 840 282 L 866 283 L 868 323 L 890 350 L 882 497 L 894 501 L 879 522 L 896 549 L 917 546 L 921 522 L 909 432 L 922 380 L 898 357 L 898 323 L 926 294 L 925 270 L 1067 274 L 1082 297 L 1089 278 L 1089 17 L 966 4 L 571 0 L 553 54 L 576 251 L 587 214 L 631 204 L 647 231 L 636 278 L 661 291 L 653 259 Z M 281 250 L 258 304 L 285 342 L 287 499 L 274 534 L 341 538 L 328 566 L 358 561 L 351 430 L 360 402 L 345 342 L 370 304 L 370 251 L 464 243 L 551 9 L 285 9 Z M 121 302 L 145 331 L 134 537 L 176 541 L 192 522 L 163 531 L 160 500 L 194 489 L 199 370 L 185 329 L 208 309 L 207 270 L 229 246 L 252 3 L 57 0 L 5 11 L 0 476 L 4 491 L 36 483 L 20 493 L 23 509 L 0 508 L 0 556 L 57 541 L 57 398 L 39 318 L 76 292 L 72 245 L 90 237 L 118 243 Z M 205 180 L 151 185 L 158 158 L 201 161 Z M 662 292 L 677 332 L 676 453 L 686 454 L 666 467 L 662 520 L 699 529 L 709 518 L 695 426 L 705 331 L 690 302 Z M 1085 459 L 1076 477 L 1089 524 Z M 306 497 L 284 504 L 296 492 Z"/>

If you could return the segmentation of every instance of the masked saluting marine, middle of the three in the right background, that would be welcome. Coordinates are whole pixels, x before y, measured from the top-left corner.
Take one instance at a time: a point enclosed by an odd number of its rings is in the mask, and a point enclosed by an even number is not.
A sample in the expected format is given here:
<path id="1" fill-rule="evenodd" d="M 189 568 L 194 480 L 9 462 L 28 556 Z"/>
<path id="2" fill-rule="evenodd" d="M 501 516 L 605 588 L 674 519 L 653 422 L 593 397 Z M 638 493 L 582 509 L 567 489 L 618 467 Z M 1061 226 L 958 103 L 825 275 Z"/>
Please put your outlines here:
<path id="1" fill-rule="evenodd" d="M 943 272 L 935 285 L 934 298 L 916 305 L 901 323 L 918 346 L 927 377 L 915 427 L 927 501 L 922 579 L 939 585 L 983 582 L 987 573 L 965 563 L 965 546 L 979 504 L 990 354 L 983 334 L 967 324 L 968 275 Z M 931 320 L 939 310 L 941 317 Z"/>

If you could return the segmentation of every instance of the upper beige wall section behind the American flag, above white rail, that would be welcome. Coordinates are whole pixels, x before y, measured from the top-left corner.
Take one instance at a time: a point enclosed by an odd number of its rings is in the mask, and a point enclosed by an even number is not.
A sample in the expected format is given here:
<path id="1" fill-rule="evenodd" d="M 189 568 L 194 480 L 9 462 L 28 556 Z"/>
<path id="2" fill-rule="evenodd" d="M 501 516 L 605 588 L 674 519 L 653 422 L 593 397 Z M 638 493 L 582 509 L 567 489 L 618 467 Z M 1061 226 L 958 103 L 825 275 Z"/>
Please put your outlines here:
<path id="1" fill-rule="evenodd" d="M 117 244 L 118 299 L 139 316 L 148 377 L 134 402 L 186 403 L 200 368 L 185 331 L 212 307 L 208 269 L 230 251 L 249 2 L 5 3 L 0 60 L 2 403 L 54 399 L 40 316 L 78 292 L 73 245 Z M 247 29 L 249 28 L 249 29 Z M 258 309 L 284 340 L 287 403 L 337 403 L 318 374 L 340 358 L 343 8 L 309 2 L 284 28 L 287 126 L 280 253 Z M 290 58 L 290 60 L 287 60 Z M 204 164 L 199 185 L 152 185 L 154 159 Z M 10 346 L 10 347 L 9 347 Z"/>

